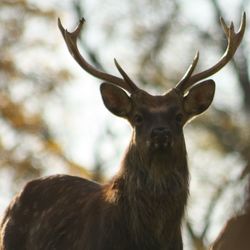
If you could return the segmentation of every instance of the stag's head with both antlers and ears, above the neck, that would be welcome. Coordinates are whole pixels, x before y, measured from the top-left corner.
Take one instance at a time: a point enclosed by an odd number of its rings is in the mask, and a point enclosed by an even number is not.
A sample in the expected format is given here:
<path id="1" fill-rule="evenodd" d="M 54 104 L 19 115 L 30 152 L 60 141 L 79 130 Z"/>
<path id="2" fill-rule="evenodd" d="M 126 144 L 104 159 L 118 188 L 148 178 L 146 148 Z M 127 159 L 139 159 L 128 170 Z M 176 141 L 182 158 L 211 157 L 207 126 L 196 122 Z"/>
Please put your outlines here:
<path id="1" fill-rule="evenodd" d="M 238 32 L 235 32 L 233 23 L 228 27 L 221 18 L 221 25 L 228 41 L 221 59 L 211 68 L 193 75 L 199 59 L 197 52 L 184 77 L 163 95 L 151 95 L 140 89 L 116 60 L 115 65 L 122 78 L 90 65 L 77 48 L 77 37 L 83 23 L 84 19 L 80 20 L 74 32 L 68 32 L 63 28 L 60 19 L 58 20 L 69 52 L 85 71 L 105 81 L 100 89 L 106 108 L 114 115 L 126 118 L 130 122 L 133 127 L 132 144 L 138 147 L 140 154 L 145 158 L 150 152 L 154 152 L 157 157 L 167 156 L 169 152 L 176 151 L 176 148 L 183 148 L 182 127 L 191 118 L 204 112 L 214 97 L 214 81 L 204 79 L 219 71 L 233 57 L 244 34 L 246 15 L 243 13 Z"/>

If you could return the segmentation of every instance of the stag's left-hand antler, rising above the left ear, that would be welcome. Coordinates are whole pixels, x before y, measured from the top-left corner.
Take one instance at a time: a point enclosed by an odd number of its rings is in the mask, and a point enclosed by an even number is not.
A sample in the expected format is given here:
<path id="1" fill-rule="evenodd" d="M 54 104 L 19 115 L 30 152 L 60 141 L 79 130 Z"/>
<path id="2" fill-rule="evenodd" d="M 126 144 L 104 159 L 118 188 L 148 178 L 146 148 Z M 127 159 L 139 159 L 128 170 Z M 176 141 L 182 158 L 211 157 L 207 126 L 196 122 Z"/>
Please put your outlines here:
<path id="1" fill-rule="evenodd" d="M 79 21 L 78 26 L 76 27 L 76 29 L 73 32 L 68 32 L 66 29 L 64 29 L 64 27 L 62 26 L 61 20 L 60 18 L 58 18 L 58 27 L 62 33 L 62 36 L 65 40 L 65 43 L 68 47 L 68 50 L 70 52 L 70 54 L 73 56 L 73 58 L 76 60 L 76 62 L 84 69 L 86 70 L 88 73 L 90 73 L 91 75 L 102 79 L 104 81 L 113 83 L 115 85 L 120 86 L 121 88 L 127 90 L 130 93 L 133 93 L 134 91 L 138 90 L 139 88 L 136 86 L 136 84 L 128 77 L 128 75 L 125 73 L 125 71 L 121 68 L 121 66 L 117 63 L 117 61 L 115 60 L 115 65 L 117 67 L 117 69 L 119 70 L 119 72 L 121 73 L 121 75 L 123 76 L 122 78 L 110 75 L 108 73 L 102 72 L 98 69 L 96 69 L 95 67 L 93 67 L 92 65 L 90 65 L 80 54 L 79 49 L 77 47 L 77 38 L 80 35 L 82 26 L 84 24 L 85 20 L 84 18 L 82 18 Z"/>

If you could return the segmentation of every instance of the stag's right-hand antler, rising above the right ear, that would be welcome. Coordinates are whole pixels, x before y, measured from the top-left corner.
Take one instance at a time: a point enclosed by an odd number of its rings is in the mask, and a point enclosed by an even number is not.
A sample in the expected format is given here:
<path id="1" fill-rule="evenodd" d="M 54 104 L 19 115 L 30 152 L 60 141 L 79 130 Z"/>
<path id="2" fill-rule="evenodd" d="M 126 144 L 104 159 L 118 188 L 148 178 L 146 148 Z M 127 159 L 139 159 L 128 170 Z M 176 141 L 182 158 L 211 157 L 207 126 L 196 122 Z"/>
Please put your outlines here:
<path id="1" fill-rule="evenodd" d="M 241 24 L 238 32 L 235 32 L 234 30 L 234 24 L 231 22 L 230 26 L 227 26 L 224 19 L 221 17 L 220 19 L 221 26 L 223 28 L 223 31 L 227 37 L 227 48 L 223 56 L 220 58 L 220 60 L 211 68 L 197 73 L 192 76 L 192 73 L 197 65 L 198 59 L 199 59 L 199 53 L 197 52 L 192 64 L 189 66 L 187 72 L 183 76 L 183 78 L 180 80 L 180 82 L 176 85 L 175 89 L 178 91 L 184 93 L 189 87 L 194 85 L 196 82 L 205 79 L 216 72 L 218 72 L 221 68 L 223 68 L 234 56 L 237 48 L 239 47 L 241 40 L 244 35 L 245 27 L 246 27 L 246 13 L 244 12 L 241 18 Z"/>

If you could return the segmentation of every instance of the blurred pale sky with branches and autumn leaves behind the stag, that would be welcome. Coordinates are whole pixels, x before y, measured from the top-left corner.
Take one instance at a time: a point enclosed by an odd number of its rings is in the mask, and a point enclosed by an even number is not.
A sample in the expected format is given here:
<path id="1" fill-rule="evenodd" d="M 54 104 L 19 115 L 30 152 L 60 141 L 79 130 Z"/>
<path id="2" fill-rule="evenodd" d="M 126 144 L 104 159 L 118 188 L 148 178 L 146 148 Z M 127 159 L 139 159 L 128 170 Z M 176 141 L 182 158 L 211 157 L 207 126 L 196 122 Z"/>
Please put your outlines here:
<path id="1" fill-rule="evenodd" d="M 239 27 L 247 0 L 1 0 L 0 214 L 33 178 L 68 173 L 105 181 L 130 140 L 104 108 L 100 81 L 69 55 L 57 18 L 72 30 L 82 16 L 82 54 L 118 75 L 113 58 L 141 87 L 162 93 L 218 61 L 226 39 L 219 17 Z M 248 21 L 249 23 L 249 21 Z M 249 26 L 249 25 L 248 25 Z M 185 127 L 191 190 L 185 249 L 202 250 L 240 211 L 250 172 L 249 28 L 234 60 L 212 78 L 210 109 Z"/>

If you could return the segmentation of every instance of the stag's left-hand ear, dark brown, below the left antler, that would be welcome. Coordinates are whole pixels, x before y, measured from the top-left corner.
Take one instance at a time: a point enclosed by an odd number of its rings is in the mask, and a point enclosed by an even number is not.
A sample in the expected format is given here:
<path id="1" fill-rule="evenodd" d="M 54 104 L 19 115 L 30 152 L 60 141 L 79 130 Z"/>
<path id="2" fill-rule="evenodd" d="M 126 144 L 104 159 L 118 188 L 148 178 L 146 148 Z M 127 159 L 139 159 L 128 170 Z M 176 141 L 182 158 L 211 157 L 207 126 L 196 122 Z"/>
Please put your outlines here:
<path id="1" fill-rule="evenodd" d="M 132 104 L 126 92 L 110 83 L 102 83 L 100 90 L 106 108 L 114 115 L 127 118 Z"/>

